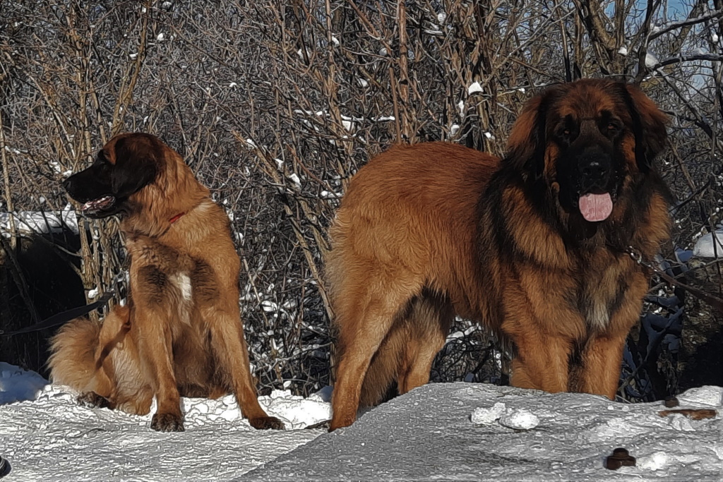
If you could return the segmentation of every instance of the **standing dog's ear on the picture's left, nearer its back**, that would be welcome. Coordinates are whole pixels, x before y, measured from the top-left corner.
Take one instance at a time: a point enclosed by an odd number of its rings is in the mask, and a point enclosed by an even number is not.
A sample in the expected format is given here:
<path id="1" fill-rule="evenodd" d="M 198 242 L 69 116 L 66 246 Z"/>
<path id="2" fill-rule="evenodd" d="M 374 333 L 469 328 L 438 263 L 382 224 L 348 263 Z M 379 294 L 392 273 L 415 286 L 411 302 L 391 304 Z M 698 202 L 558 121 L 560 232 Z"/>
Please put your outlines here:
<path id="1" fill-rule="evenodd" d="M 527 101 L 512 126 L 505 162 L 523 173 L 525 180 L 537 181 L 544 173 L 547 150 L 547 108 L 559 87 L 550 87 Z"/>

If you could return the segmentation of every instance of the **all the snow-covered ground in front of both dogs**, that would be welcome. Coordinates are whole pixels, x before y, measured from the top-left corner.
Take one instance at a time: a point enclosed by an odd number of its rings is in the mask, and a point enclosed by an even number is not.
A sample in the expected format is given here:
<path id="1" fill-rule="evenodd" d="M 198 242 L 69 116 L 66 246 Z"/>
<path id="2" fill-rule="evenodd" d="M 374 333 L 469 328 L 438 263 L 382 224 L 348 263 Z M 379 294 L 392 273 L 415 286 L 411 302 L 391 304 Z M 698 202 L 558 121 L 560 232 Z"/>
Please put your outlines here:
<path id="1" fill-rule="evenodd" d="M 81 408 L 62 387 L 0 363 L 0 455 L 8 481 L 696 480 L 723 478 L 723 389 L 680 395 L 714 418 L 661 417 L 662 403 L 547 394 L 488 384 L 429 384 L 327 434 L 328 390 L 260 397 L 286 431 L 255 431 L 233 397 L 184 399 L 187 430 L 150 416 Z M 16 401 L 13 400 L 22 400 Z M 625 447 L 635 467 L 603 467 Z"/>

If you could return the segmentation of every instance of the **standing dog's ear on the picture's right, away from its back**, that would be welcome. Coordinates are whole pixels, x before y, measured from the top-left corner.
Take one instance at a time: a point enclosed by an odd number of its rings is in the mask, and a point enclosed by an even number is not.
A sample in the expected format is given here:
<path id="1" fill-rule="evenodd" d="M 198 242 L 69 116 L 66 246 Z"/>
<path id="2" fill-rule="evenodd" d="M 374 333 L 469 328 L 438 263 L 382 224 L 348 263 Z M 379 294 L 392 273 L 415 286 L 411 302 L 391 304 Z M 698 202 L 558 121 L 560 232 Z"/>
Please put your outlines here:
<path id="1" fill-rule="evenodd" d="M 641 172 L 646 173 L 650 171 L 655 156 L 665 147 L 668 118 L 636 85 L 623 85 L 623 97 L 633 120 L 636 164 Z"/>

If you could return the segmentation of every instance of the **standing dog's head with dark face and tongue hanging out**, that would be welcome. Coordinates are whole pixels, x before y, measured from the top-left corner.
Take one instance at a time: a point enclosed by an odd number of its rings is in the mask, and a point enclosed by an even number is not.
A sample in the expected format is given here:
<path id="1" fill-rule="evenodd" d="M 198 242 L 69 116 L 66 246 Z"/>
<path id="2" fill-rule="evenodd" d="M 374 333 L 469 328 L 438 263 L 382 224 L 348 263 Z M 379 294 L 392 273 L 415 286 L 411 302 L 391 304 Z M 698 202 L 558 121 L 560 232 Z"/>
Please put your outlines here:
<path id="1" fill-rule="evenodd" d="M 665 144 L 666 121 L 633 85 L 555 85 L 526 104 L 510 134 L 508 160 L 527 182 L 546 182 L 562 210 L 596 223 L 609 218 L 626 178 L 650 171 Z"/>

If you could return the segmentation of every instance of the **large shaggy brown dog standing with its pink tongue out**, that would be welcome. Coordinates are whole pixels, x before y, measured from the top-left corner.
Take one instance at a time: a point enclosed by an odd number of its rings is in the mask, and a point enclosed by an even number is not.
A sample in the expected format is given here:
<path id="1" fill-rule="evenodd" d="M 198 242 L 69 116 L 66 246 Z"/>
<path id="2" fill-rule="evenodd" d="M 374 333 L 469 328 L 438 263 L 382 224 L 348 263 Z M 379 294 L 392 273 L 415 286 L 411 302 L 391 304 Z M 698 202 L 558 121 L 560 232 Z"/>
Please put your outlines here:
<path id="1" fill-rule="evenodd" d="M 435 142 L 361 168 L 330 231 L 331 429 L 428 382 L 455 314 L 513 342 L 515 386 L 614 397 L 648 288 L 626 251 L 669 233 L 665 122 L 636 87 L 585 79 L 530 100 L 504 160 Z"/>

